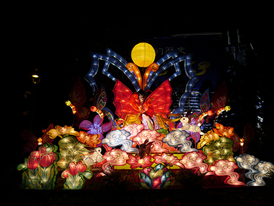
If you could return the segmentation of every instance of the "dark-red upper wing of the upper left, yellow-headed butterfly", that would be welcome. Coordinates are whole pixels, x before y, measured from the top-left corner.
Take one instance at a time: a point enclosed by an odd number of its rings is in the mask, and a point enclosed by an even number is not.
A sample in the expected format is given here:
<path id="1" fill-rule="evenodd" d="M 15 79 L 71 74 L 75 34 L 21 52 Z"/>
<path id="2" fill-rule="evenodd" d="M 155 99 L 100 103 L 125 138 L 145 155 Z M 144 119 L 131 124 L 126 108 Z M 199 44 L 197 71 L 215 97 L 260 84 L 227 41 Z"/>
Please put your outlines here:
<path id="1" fill-rule="evenodd" d="M 71 103 L 74 106 L 82 106 L 84 102 L 87 100 L 86 91 L 84 90 L 84 86 L 78 78 L 78 80 L 73 85 L 73 88 L 71 90 Z"/>

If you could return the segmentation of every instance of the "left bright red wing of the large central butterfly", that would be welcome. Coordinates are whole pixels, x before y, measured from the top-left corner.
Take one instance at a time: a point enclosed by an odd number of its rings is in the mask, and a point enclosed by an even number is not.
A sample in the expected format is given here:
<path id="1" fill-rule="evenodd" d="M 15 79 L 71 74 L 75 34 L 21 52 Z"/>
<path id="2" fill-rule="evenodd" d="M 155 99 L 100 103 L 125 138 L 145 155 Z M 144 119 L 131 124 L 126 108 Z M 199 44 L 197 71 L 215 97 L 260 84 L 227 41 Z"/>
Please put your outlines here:
<path id="1" fill-rule="evenodd" d="M 126 85 L 124 85 L 119 80 L 116 80 L 115 87 L 113 88 L 115 105 L 115 113 L 122 119 L 127 113 L 136 113 L 132 106 L 130 106 L 130 96 L 133 94 Z"/>

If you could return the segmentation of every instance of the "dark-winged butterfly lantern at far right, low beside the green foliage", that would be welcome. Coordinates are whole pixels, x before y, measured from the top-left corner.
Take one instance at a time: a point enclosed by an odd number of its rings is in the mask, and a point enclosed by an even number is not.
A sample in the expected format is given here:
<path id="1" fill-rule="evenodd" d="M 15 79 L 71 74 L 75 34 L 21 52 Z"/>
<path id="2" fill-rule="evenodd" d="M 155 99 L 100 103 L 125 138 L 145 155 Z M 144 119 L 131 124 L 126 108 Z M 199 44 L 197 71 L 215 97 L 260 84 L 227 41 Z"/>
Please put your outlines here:
<path id="1" fill-rule="evenodd" d="M 240 138 L 234 131 L 234 135 L 231 139 L 234 141 L 233 152 L 236 152 L 240 148 L 240 154 L 247 152 L 247 144 L 254 138 L 254 128 L 250 124 L 244 126 L 244 137 Z"/>

